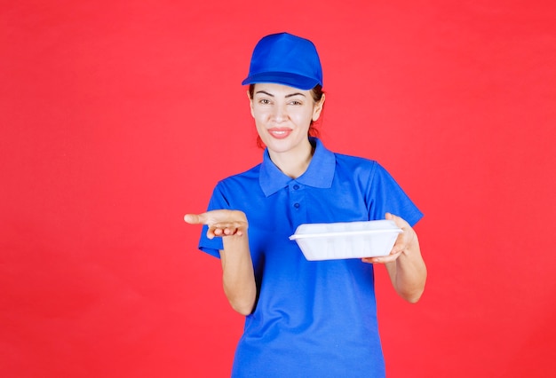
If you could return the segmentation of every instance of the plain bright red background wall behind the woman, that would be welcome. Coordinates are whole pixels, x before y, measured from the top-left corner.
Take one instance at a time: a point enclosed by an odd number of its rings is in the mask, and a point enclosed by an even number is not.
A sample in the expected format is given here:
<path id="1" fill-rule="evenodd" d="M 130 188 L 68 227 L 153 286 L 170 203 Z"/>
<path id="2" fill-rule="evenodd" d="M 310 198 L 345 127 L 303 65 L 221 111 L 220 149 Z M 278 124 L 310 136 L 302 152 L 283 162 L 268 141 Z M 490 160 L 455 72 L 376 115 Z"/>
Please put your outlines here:
<path id="1" fill-rule="evenodd" d="M 2 375 L 229 374 L 242 317 L 182 217 L 261 159 L 240 82 L 280 31 L 321 53 L 325 144 L 425 212 L 421 302 L 377 269 L 388 376 L 556 374 L 554 4 L 3 1 Z"/>

